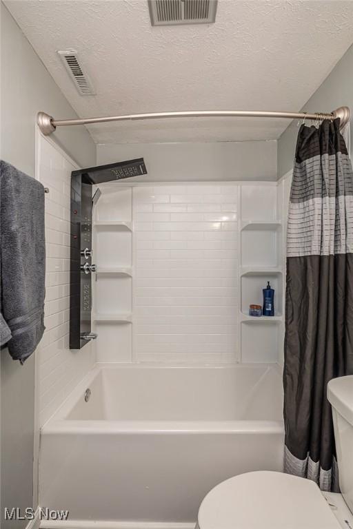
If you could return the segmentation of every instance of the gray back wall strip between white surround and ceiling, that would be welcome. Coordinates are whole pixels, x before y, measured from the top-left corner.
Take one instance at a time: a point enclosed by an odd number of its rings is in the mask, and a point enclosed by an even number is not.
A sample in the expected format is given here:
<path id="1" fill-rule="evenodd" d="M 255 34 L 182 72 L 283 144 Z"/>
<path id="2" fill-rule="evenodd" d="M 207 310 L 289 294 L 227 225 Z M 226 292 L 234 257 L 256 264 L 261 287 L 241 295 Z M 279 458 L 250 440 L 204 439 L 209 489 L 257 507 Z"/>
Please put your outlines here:
<path id="1" fill-rule="evenodd" d="M 97 145 L 97 163 L 145 158 L 142 182 L 276 180 L 276 141 Z"/>

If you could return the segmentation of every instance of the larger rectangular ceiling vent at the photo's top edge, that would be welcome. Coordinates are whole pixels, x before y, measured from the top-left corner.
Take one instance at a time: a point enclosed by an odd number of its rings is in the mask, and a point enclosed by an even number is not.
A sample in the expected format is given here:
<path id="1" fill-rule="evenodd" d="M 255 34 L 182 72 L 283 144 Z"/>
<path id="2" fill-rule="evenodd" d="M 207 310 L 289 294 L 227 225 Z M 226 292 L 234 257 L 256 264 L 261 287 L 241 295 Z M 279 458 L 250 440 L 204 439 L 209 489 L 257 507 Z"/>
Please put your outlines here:
<path id="1" fill-rule="evenodd" d="M 216 0 L 148 0 L 152 25 L 210 24 L 216 20 Z"/>

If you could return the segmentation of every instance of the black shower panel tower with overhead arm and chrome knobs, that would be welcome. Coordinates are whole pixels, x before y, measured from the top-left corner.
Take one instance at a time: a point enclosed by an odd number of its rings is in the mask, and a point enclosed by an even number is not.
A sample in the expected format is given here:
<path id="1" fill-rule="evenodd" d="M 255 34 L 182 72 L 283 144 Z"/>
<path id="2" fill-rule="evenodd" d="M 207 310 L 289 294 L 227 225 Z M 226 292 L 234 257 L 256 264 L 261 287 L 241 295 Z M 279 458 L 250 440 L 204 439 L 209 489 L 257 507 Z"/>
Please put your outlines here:
<path id="1" fill-rule="evenodd" d="M 143 158 L 80 169 L 71 174 L 70 349 L 97 338 L 92 333 L 92 185 L 147 174 Z"/>

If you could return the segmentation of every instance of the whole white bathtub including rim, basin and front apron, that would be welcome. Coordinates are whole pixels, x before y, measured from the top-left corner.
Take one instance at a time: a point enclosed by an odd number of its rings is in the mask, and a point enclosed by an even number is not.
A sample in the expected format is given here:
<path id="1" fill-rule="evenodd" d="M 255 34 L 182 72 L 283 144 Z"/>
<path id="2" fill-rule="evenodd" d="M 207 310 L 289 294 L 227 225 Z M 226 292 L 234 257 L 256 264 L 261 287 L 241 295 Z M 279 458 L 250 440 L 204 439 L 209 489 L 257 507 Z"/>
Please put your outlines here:
<path id="1" fill-rule="evenodd" d="M 219 481 L 282 460 L 276 365 L 97 364 L 41 431 L 40 505 L 89 527 L 191 522 Z"/>

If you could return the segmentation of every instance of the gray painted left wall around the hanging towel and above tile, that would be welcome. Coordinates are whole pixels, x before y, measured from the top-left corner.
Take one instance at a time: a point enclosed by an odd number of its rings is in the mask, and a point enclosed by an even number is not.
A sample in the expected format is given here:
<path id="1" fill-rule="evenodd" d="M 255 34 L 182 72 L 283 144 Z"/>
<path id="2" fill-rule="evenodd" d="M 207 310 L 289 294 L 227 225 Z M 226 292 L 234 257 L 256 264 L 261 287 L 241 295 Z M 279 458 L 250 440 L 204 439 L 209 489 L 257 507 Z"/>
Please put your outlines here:
<path id="1" fill-rule="evenodd" d="M 1 3 L 1 158 L 34 176 L 35 118 L 39 110 L 75 116 L 26 37 Z M 55 134 L 81 166 L 96 163 L 96 148 L 83 127 Z M 26 522 L 3 521 L 3 508 L 31 507 L 34 459 L 34 355 L 21 366 L 6 349 L 1 358 L 1 529 Z"/>

